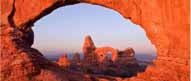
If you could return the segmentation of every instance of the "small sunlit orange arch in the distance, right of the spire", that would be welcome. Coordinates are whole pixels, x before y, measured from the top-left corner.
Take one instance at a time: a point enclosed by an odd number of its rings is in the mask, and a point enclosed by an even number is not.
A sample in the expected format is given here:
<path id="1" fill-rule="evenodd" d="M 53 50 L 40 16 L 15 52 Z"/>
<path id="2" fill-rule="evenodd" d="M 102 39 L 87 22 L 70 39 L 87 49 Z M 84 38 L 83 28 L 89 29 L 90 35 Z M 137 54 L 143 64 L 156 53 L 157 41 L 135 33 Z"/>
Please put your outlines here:
<path id="1" fill-rule="evenodd" d="M 103 60 L 106 58 L 108 52 L 112 53 L 111 60 L 114 62 L 118 56 L 118 51 L 116 49 L 114 49 L 112 47 L 96 48 L 95 53 L 96 53 L 96 55 L 98 55 L 99 62 L 103 62 Z"/>

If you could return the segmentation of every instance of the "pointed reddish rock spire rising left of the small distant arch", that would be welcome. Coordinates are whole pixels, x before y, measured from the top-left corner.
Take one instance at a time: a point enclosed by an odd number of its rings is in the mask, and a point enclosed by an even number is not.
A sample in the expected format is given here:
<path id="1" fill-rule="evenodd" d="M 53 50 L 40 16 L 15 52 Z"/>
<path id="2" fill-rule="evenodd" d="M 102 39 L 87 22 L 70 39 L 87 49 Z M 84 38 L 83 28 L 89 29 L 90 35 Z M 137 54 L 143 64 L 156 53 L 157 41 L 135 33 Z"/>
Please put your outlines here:
<path id="1" fill-rule="evenodd" d="M 92 51 L 94 51 L 96 49 L 94 42 L 91 38 L 90 35 L 85 37 L 84 43 L 83 43 L 83 47 L 82 47 L 82 51 L 84 54 L 88 54 Z"/>

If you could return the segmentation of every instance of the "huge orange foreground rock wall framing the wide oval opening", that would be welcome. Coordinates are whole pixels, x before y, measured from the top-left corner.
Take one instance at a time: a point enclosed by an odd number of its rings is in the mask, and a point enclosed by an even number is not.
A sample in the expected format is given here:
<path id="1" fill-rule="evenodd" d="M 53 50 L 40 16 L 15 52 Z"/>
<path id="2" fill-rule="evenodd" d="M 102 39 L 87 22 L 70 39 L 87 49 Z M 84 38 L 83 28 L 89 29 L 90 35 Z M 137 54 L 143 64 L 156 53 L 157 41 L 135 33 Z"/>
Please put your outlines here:
<path id="1" fill-rule="evenodd" d="M 46 73 L 55 74 L 56 71 L 47 69 L 47 66 L 59 70 L 40 52 L 31 48 L 34 38 L 30 34 L 31 27 L 34 22 L 53 10 L 79 2 L 101 5 L 119 12 L 124 18 L 140 25 L 155 45 L 158 55 L 154 61 L 156 66 L 148 67 L 137 77 L 124 80 L 189 81 L 189 0 L 1 0 L 0 2 L 2 81 L 48 81 L 47 78 L 36 77 L 47 77 Z M 52 77 L 51 81 L 61 81 L 63 79 L 61 75 L 64 76 L 64 73 L 58 73 L 57 79 Z M 70 76 L 64 78 L 71 80 Z M 84 80 L 87 77 L 78 75 L 78 78 Z"/>

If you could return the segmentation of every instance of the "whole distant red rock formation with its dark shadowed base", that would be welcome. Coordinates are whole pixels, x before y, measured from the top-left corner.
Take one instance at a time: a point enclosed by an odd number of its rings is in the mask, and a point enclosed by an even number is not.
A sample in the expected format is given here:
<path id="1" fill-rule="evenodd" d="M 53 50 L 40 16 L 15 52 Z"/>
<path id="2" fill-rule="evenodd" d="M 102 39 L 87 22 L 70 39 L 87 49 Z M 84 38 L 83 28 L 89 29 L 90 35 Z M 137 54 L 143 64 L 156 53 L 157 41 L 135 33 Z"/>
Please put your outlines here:
<path id="1" fill-rule="evenodd" d="M 58 65 L 63 69 L 96 76 L 126 78 L 135 76 L 138 72 L 145 70 L 145 66 L 138 64 L 133 48 L 127 48 L 124 51 L 112 47 L 97 48 L 90 36 L 85 37 L 82 54 L 84 54 L 83 59 L 80 59 L 79 53 L 74 54 L 71 64 L 67 56 L 61 57 Z"/>

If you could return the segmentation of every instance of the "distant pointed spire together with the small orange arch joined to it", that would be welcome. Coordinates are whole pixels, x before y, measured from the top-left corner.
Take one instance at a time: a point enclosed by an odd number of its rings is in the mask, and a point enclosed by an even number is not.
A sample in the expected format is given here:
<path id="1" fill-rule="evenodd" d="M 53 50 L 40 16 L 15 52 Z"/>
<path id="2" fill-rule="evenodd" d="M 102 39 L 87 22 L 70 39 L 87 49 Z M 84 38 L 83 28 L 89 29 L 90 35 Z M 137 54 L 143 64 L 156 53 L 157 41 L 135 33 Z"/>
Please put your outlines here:
<path id="1" fill-rule="evenodd" d="M 108 52 L 112 53 L 112 61 L 115 61 L 118 55 L 118 51 L 112 47 L 97 48 L 89 35 L 85 37 L 82 52 L 84 53 L 84 58 L 89 59 L 88 61 L 97 59 L 99 62 L 106 58 Z"/>

